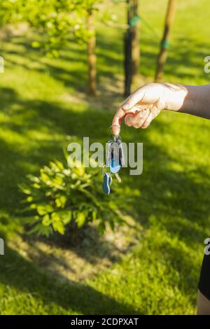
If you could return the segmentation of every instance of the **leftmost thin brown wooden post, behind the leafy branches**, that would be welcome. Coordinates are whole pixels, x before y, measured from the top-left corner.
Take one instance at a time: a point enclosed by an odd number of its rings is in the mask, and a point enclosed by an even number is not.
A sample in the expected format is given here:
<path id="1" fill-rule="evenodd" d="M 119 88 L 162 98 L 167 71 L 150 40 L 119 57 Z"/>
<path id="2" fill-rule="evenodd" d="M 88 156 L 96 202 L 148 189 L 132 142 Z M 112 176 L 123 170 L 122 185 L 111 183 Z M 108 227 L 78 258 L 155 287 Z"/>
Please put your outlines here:
<path id="1" fill-rule="evenodd" d="M 97 90 L 97 69 L 96 69 L 96 55 L 95 45 L 96 37 L 94 31 L 94 18 L 92 9 L 87 10 L 87 30 L 90 32 L 90 38 L 87 41 L 87 63 L 88 63 L 88 89 L 90 94 L 95 94 Z"/>

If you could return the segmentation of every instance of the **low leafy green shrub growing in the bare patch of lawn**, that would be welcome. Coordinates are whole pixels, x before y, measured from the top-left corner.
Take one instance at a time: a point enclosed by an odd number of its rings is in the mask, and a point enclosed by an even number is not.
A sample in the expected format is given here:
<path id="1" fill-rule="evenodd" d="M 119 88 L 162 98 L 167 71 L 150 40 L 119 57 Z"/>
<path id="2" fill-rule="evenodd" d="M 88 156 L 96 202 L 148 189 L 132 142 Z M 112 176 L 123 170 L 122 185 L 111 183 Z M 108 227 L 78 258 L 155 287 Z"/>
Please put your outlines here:
<path id="1" fill-rule="evenodd" d="M 25 212 L 31 232 L 49 236 L 53 232 L 64 235 L 67 225 L 77 228 L 96 221 L 104 232 L 106 223 L 123 223 L 113 195 L 102 192 L 100 169 L 67 167 L 55 160 L 40 170 L 38 176 L 28 176 L 29 182 L 20 188 L 27 196 Z"/>

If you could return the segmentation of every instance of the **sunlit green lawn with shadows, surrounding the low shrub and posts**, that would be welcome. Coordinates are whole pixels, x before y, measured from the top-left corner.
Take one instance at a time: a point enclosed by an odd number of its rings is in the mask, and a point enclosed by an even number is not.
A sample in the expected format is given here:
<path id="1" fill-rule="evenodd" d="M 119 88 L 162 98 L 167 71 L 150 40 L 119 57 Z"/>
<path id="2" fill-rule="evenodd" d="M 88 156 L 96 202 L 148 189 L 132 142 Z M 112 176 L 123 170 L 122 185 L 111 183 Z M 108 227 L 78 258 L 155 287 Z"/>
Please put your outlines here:
<path id="1" fill-rule="evenodd" d="M 159 35 L 166 4 L 141 3 L 144 20 Z M 209 55 L 208 4 L 178 1 L 165 80 L 209 82 L 203 71 Z M 114 84 L 123 73 L 123 31 L 98 24 L 97 36 L 103 87 L 106 79 Z M 6 244 L 15 239 L 14 232 L 22 232 L 18 183 L 49 160 L 62 158 L 66 135 L 104 143 L 113 99 L 119 99 L 113 93 L 101 104 L 100 97 L 81 100 L 78 91 L 87 83 L 85 47 L 71 43 L 59 59 L 46 59 L 31 49 L 33 37 L 16 36 L 1 46 L 6 71 L 0 80 L 0 230 Z M 158 40 L 142 22 L 141 74 L 148 78 L 154 76 L 157 53 Z M 6 246 L 0 258 L 0 314 L 195 314 L 210 226 L 209 122 L 165 112 L 148 130 L 123 127 L 122 137 L 144 143 L 144 173 L 122 174 L 123 188 L 141 191 L 133 200 L 133 216 L 144 228 L 139 243 L 80 284 L 55 279 Z"/>

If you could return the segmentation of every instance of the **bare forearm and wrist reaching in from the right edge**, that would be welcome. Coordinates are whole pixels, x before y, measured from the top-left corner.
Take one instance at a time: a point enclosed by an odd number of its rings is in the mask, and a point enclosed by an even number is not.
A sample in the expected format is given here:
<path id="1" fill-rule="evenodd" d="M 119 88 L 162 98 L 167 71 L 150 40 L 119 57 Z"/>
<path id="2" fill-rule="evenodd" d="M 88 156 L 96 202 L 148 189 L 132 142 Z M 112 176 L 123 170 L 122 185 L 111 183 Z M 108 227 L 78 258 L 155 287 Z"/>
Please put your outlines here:
<path id="1" fill-rule="evenodd" d="M 172 85 L 167 87 L 167 109 L 210 119 L 210 85 Z"/>

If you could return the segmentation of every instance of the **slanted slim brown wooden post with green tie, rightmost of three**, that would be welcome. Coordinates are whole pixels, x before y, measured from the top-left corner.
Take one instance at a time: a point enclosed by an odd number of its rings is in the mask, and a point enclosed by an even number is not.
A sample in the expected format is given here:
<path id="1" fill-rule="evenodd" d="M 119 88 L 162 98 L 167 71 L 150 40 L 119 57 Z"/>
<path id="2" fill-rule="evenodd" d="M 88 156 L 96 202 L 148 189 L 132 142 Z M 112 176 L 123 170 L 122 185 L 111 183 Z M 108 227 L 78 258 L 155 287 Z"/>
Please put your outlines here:
<path id="1" fill-rule="evenodd" d="M 162 79 L 162 73 L 167 60 L 167 48 L 169 45 L 169 34 L 172 28 L 172 22 L 176 11 L 176 0 L 169 0 L 167 15 L 165 18 L 165 29 L 160 43 L 160 52 L 158 55 L 157 68 L 155 72 L 155 82 L 159 82 Z"/>

